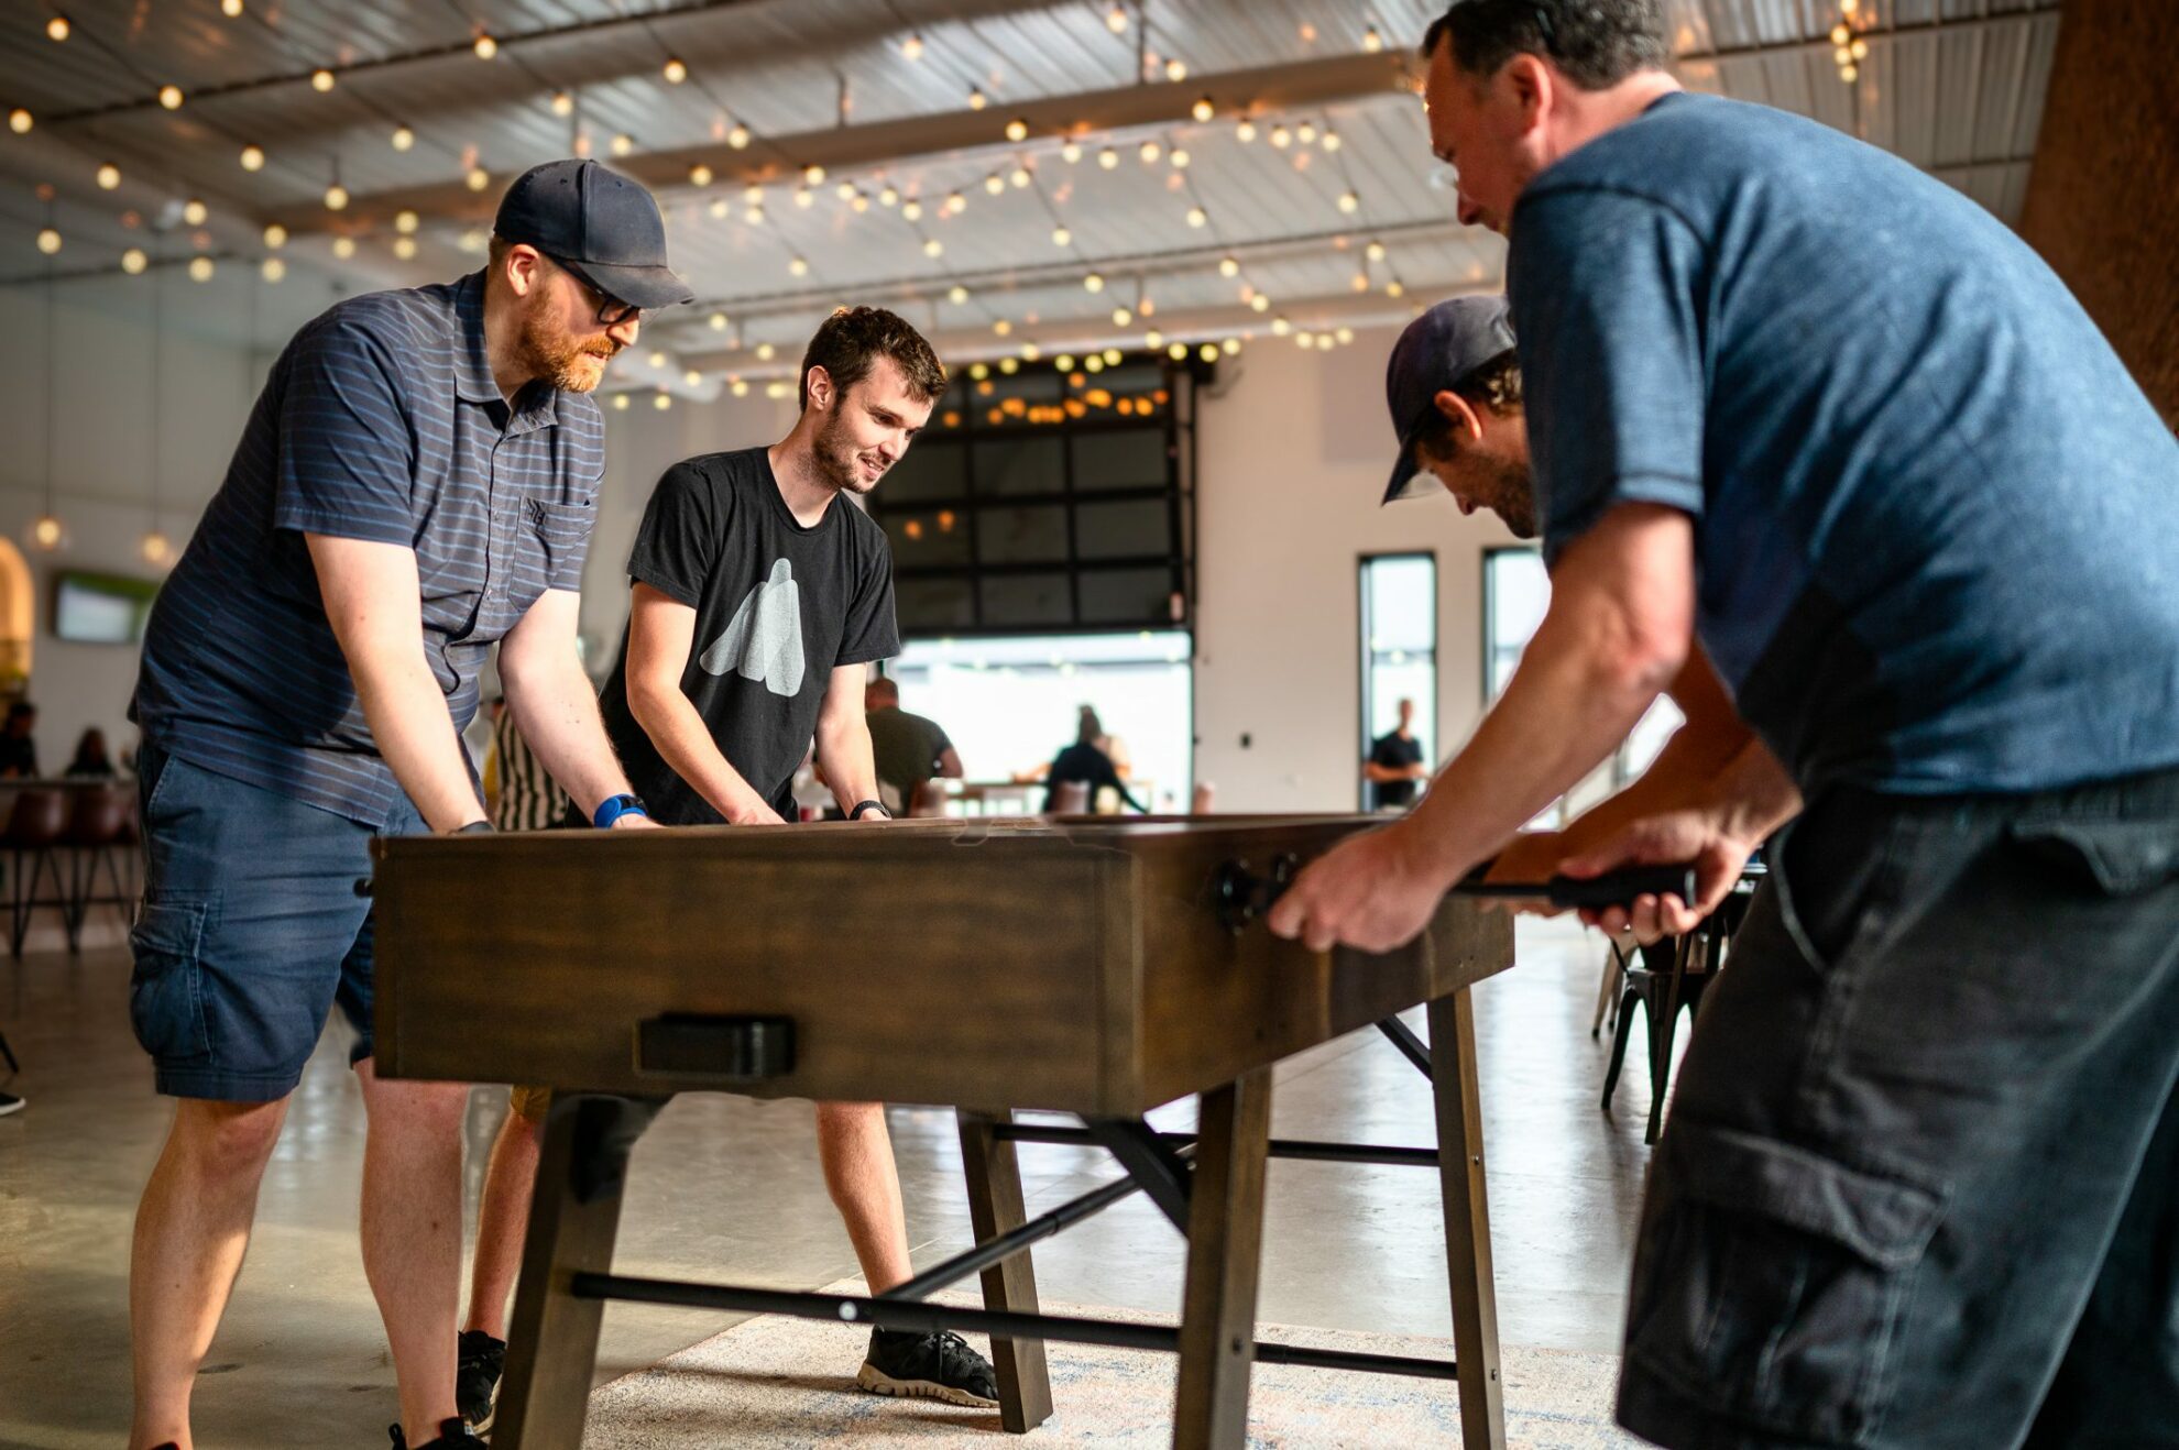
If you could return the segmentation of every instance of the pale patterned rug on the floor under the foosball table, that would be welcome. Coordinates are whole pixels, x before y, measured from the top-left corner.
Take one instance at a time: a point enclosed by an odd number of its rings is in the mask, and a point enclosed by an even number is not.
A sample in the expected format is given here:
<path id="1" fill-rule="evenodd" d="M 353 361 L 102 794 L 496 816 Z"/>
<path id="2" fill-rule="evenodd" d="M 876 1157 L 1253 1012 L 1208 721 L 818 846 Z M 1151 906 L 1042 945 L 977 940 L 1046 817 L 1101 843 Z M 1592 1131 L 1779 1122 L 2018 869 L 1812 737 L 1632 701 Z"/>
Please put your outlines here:
<path id="1" fill-rule="evenodd" d="M 824 1293 L 863 1293 L 861 1282 Z M 941 1302 L 981 1304 L 957 1293 Z M 1046 1304 L 1055 1315 L 1155 1322 L 1155 1315 Z M 1259 1337 L 1375 1354 L 1451 1359 L 1447 1339 L 1358 1335 L 1266 1324 Z M 623 1376 L 591 1396 L 593 1450 L 695 1450 L 697 1446 L 872 1446 L 996 1450 L 1018 1446 L 1170 1446 L 1170 1354 L 1048 1343 L 1055 1413 L 1026 1437 L 1000 1430 L 998 1411 L 963 1411 L 926 1400 L 887 1400 L 854 1387 L 867 1328 L 821 1319 L 760 1317 Z M 972 1337 L 978 1350 L 989 1345 Z M 1567 1354 L 1508 1345 L 1506 1443 L 1523 1450 L 1621 1450 L 1641 1446 L 1612 1426 L 1610 1354 Z M 1458 1446 L 1451 1380 L 1336 1374 L 1257 1365 L 1249 1393 L 1249 1443 L 1262 1450 Z"/>

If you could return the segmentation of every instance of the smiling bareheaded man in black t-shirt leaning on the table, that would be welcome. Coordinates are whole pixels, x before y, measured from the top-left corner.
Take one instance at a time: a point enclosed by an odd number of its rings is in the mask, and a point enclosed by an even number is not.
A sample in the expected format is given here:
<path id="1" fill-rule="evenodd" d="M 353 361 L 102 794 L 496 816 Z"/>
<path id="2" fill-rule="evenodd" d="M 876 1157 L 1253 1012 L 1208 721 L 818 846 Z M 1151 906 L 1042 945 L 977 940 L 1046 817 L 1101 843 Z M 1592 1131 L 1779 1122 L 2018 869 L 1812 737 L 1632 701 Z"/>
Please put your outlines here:
<path id="1" fill-rule="evenodd" d="M 802 418 L 769 448 L 706 453 L 658 479 L 628 562 L 634 603 L 599 697 L 628 779 L 662 825 L 782 825 L 817 766 L 841 810 L 882 821 L 863 675 L 900 653 L 893 557 L 852 499 L 930 418 L 946 368 L 889 311 L 835 311 L 802 359 Z M 821 910 L 821 904 L 813 904 Z M 850 986 L 843 982 L 843 986 Z M 543 1117 L 543 1093 L 523 1093 Z M 817 1104 L 826 1189 L 872 1293 L 911 1276 L 885 1104 Z M 525 1193 L 525 1184 L 486 1182 Z M 519 1215 L 479 1213 L 479 1224 Z M 874 1330 L 876 1393 L 996 1406 L 991 1365 L 957 1335 Z"/>

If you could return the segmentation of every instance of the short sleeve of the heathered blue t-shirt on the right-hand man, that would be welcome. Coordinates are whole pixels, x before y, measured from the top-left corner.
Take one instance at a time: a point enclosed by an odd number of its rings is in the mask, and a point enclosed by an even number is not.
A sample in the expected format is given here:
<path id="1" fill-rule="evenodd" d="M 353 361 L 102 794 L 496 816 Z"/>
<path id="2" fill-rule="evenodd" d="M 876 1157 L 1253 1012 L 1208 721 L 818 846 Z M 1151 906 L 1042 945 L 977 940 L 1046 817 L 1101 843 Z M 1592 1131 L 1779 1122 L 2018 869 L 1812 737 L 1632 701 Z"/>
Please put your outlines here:
<path id="1" fill-rule="evenodd" d="M 1704 272 L 1702 242 L 1652 200 L 1521 205 L 1506 281 L 1547 560 L 1619 503 L 1702 514 Z"/>

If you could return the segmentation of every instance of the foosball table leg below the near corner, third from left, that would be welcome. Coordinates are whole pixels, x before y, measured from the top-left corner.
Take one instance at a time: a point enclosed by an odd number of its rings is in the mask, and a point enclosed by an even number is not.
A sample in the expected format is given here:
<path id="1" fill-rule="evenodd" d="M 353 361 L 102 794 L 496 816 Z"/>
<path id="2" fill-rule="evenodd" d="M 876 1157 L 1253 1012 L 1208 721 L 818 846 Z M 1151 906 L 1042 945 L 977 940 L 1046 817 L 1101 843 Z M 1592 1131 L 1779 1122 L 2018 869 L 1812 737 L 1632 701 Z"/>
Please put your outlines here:
<path id="1" fill-rule="evenodd" d="M 1174 1450 L 1240 1450 L 1249 1439 L 1268 1156 L 1270 1069 L 1262 1067 L 1203 1095 L 1188 1197 Z"/>

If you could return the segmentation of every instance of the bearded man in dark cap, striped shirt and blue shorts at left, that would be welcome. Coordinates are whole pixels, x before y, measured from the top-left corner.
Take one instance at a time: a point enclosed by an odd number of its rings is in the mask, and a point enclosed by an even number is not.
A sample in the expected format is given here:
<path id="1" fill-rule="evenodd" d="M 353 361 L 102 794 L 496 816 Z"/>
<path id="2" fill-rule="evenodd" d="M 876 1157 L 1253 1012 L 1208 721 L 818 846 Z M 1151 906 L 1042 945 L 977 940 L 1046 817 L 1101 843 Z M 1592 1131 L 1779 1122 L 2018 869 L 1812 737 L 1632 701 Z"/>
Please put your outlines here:
<path id="1" fill-rule="evenodd" d="M 466 1089 L 373 1071 L 355 882 L 373 836 L 490 830 L 460 732 L 492 642 L 553 779 L 599 825 L 649 825 L 575 653 L 606 470 L 586 394 L 645 309 L 689 298 L 649 192 L 595 161 L 523 174 L 482 274 L 357 296 L 296 333 L 159 594 L 131 705 L 131 1019 L 179 1104 L 131 1256 L 137 1450 L 190 1446 L 196 1369 L 333 1002 L 370 1115 L 362 1239 L 401 1387 L 392 1439 L 468 1439 Z"/>

